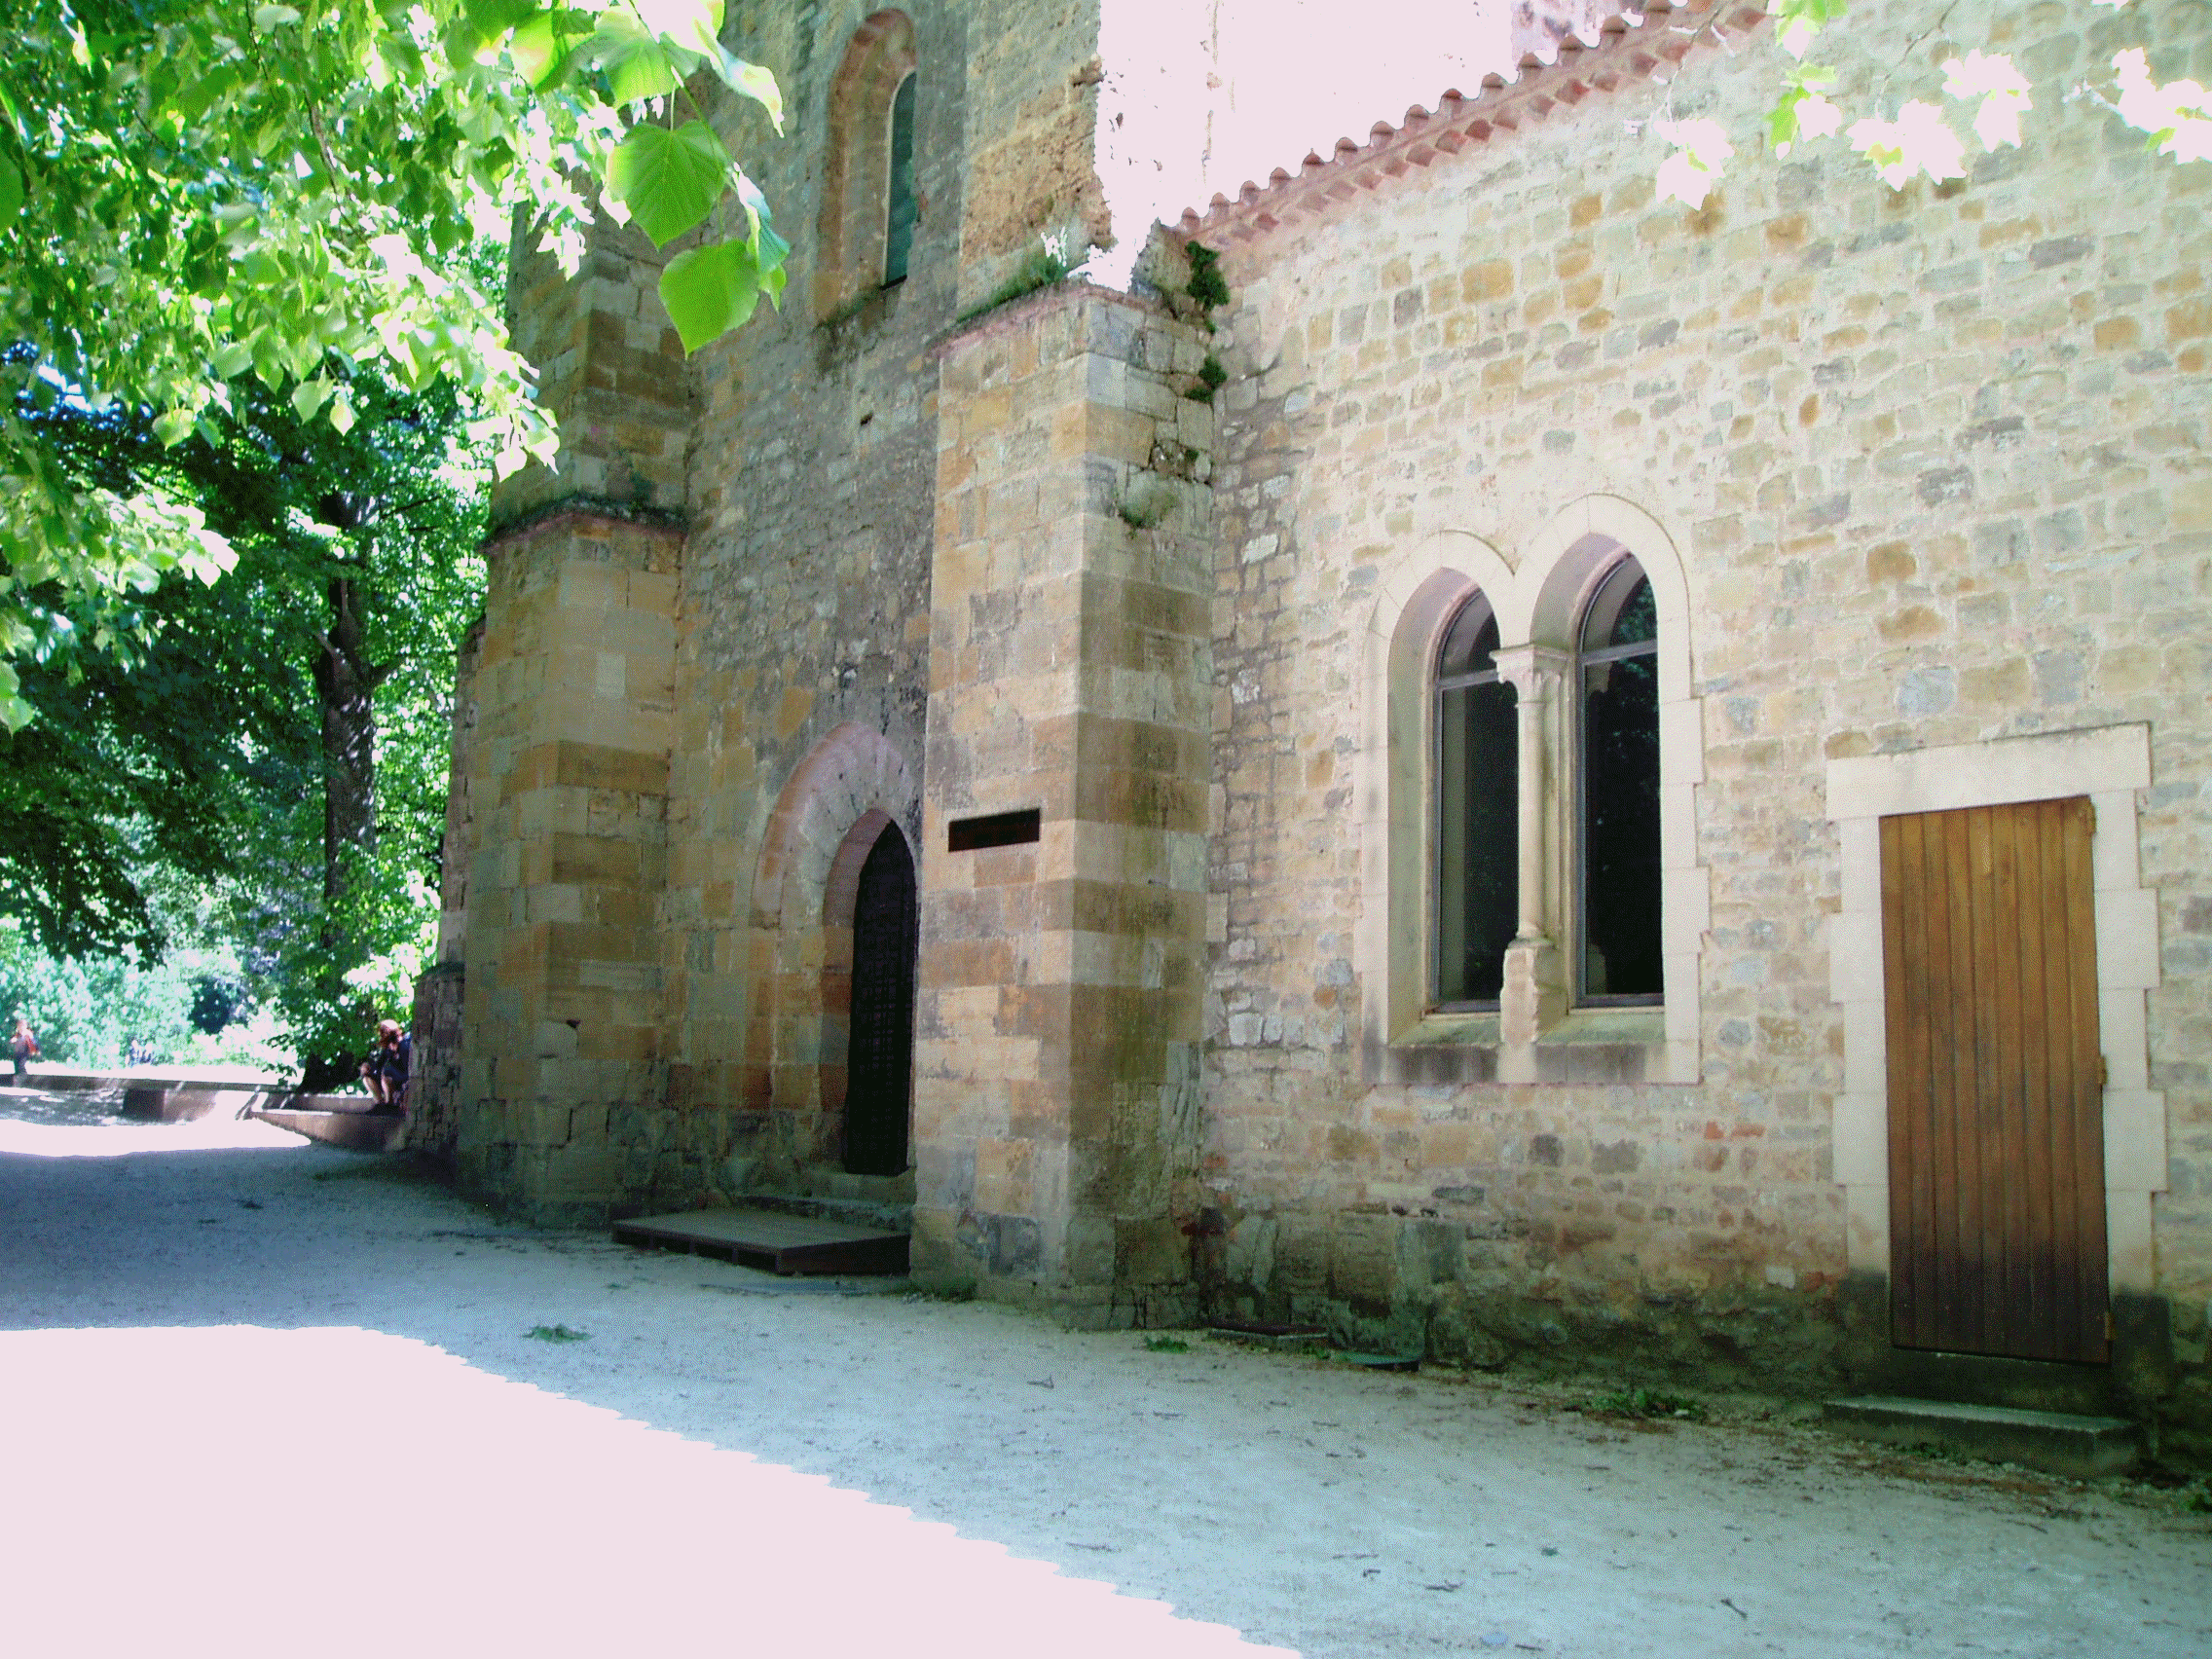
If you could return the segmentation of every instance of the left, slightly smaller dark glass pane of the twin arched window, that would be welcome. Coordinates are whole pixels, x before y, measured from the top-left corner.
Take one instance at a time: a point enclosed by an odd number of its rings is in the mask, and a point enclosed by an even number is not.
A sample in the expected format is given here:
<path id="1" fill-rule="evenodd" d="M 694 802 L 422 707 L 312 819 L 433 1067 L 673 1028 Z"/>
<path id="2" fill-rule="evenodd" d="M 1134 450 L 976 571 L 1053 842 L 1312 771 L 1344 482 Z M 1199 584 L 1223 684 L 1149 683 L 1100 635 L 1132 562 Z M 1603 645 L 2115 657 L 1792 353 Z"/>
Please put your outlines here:
<path id="1" fill-rule="evenodd" d="M 1498 617 L 1480 593 L 1436 659 L 1436 1000 L 1498 1002 L 1520 922 L 1520 772 Z"/>

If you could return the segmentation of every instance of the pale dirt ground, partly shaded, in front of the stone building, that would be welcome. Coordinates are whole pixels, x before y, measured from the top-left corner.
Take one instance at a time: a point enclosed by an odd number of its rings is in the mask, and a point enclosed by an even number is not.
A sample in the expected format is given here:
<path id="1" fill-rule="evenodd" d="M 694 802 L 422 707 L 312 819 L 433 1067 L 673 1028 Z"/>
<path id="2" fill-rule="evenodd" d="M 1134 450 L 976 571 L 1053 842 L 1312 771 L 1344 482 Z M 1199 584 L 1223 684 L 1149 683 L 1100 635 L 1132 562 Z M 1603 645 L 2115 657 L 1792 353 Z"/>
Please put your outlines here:
<path id="1" fill-rule="evenodd" d="M 2137 1482 L 776 1281 L 95 1113 L 0 1091 L 24 1655 L 2212 1652 L 2212 1517 Z"/>

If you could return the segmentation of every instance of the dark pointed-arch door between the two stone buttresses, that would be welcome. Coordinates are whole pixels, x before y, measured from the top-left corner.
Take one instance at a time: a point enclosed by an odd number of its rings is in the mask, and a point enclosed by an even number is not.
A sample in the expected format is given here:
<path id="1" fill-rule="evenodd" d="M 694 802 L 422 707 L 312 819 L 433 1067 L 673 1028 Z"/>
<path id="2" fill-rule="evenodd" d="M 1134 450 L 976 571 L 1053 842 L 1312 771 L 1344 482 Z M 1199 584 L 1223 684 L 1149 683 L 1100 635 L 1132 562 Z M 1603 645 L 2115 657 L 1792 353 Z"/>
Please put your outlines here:
<path id="1" fill-rule="evenodd" d="M 914 956 L 920 905 L 914 854 L 885 825 L 860 865 L 852 909 L 852 1024 L 845 1051 L 845 1168 L 898 1175 L 907 1168 L 914 1108 Z"/>

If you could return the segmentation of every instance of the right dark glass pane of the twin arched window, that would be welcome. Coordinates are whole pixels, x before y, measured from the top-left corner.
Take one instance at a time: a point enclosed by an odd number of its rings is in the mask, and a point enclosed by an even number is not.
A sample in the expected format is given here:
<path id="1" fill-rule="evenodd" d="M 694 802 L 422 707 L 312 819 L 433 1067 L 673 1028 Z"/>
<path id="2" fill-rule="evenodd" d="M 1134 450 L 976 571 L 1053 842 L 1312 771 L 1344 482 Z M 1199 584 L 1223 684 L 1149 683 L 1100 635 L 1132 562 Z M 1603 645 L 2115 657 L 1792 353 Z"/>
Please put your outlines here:
<path id="1" fill-rule="evenodd" d="M 1582 998 L 1657 1002 L 1659 613 L 1621 560 L 1582 619 Z"/>

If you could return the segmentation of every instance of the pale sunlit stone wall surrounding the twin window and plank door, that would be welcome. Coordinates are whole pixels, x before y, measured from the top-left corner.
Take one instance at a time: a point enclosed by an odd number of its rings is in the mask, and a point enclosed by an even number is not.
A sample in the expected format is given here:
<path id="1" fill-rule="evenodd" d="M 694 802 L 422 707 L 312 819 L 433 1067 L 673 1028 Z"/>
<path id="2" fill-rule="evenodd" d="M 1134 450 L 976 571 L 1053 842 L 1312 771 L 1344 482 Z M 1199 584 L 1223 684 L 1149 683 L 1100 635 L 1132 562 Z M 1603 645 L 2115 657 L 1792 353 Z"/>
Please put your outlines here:
<path id="1" fill-rule="evenodd" d="M 2212 66 L 2208 24 L 2161 15 L 2161 75 Z M 2185 1369 L 2212 1294 L 2212 719 L 2177 697 L 2212 670 L 2212 170 L 2066 102 L 2126 44 L 2108 20 L 2035 7 L 1907 51 L 1927 27 L 1854 11 L 1845 86 L 1898 62 L 1891 95 L 1933 97 L 1942 58 L 2015 51 L 2026 148 L 1966 181 L 1891 195 L 1829 144 L 1739 155 L 1703 212 L 1657 204 L 1637 133 L 1663 93 L 1628 80 L 1230 252 L 1206 1075 L 1225 1312 L 1829 1385 L 1825 761 L 2150 721 L 2159 1285 L 2170 1409 L 2212 1420 Z M 1752 131 L 1783 66 L 1767 35 L 1692 55 L 1672 108 Z M 1511 562 L 1593 491 L 1688 564 L 1703 1086 L 1367 1086 L 1352 770 L 1378 568 L 1444 520 Z"/>

